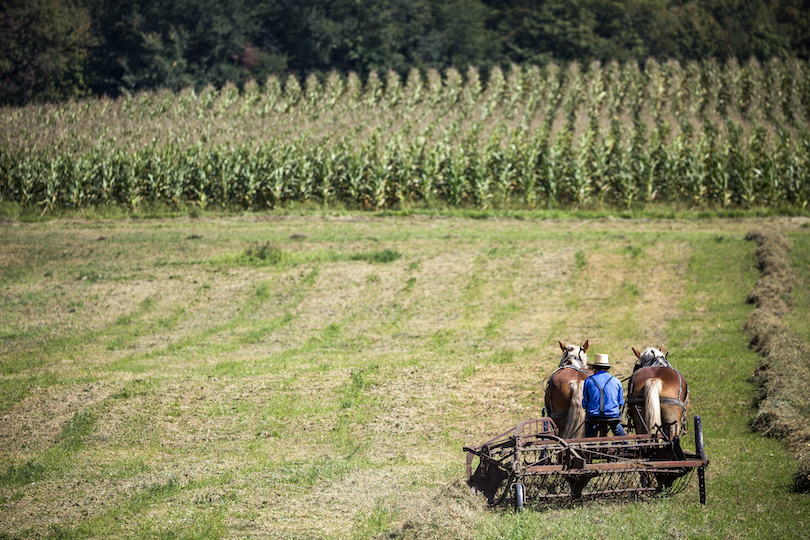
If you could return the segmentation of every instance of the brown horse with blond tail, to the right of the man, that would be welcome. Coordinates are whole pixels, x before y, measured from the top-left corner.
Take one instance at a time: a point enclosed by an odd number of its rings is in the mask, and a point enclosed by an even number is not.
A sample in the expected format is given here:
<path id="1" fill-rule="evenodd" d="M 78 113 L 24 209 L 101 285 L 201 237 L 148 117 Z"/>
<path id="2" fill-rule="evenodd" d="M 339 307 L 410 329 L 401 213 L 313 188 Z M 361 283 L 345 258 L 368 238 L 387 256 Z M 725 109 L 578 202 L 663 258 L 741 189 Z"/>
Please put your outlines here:
<path id="1" fill-rule="evenodd" d="M 630 377 L 627 405 L 636 433 L 655 433 L 660 428 L 670 439 L 680 437 L 686 431 L 689 411 L 686 379 L 662 350 L 651 347 L 643 353 L 633 352 L 638 361 Z"/>

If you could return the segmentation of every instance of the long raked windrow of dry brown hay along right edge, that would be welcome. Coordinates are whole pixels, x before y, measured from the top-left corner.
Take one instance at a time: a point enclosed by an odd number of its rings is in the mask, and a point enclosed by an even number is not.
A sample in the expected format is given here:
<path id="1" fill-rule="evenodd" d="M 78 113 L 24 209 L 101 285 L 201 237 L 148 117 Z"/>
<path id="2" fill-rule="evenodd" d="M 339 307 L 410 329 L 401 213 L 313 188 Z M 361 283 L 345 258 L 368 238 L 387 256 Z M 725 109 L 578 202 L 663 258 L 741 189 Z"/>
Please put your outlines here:
<path id="1" fill-rule="evenodd" d="M 788 443 L 800 461 L 794 489 L 810 492 L 810 346 L 780 320 L 796 283 L 787 258 L 790 242 L 776 231 L 752 231 L 746 239 L 757 242 L 754 257 L 762 272 L 748 295 L 757 307 L 745 324 L 762 356 L 752 376 L 759 387 L 753 426 Z"/>

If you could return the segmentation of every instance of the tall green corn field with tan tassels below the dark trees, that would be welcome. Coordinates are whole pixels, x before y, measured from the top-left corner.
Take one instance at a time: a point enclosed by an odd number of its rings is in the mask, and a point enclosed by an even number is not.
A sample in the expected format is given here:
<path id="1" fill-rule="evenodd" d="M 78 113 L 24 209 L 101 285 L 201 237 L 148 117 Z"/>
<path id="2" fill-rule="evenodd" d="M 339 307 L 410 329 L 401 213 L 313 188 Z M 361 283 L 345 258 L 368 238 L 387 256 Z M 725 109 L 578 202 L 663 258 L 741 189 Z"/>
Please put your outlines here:
<path id="1" fill-rule="evenodd" d="M 271 76 L 0 109 L 21 207 L 805 207 L 801 60 Z"/>

